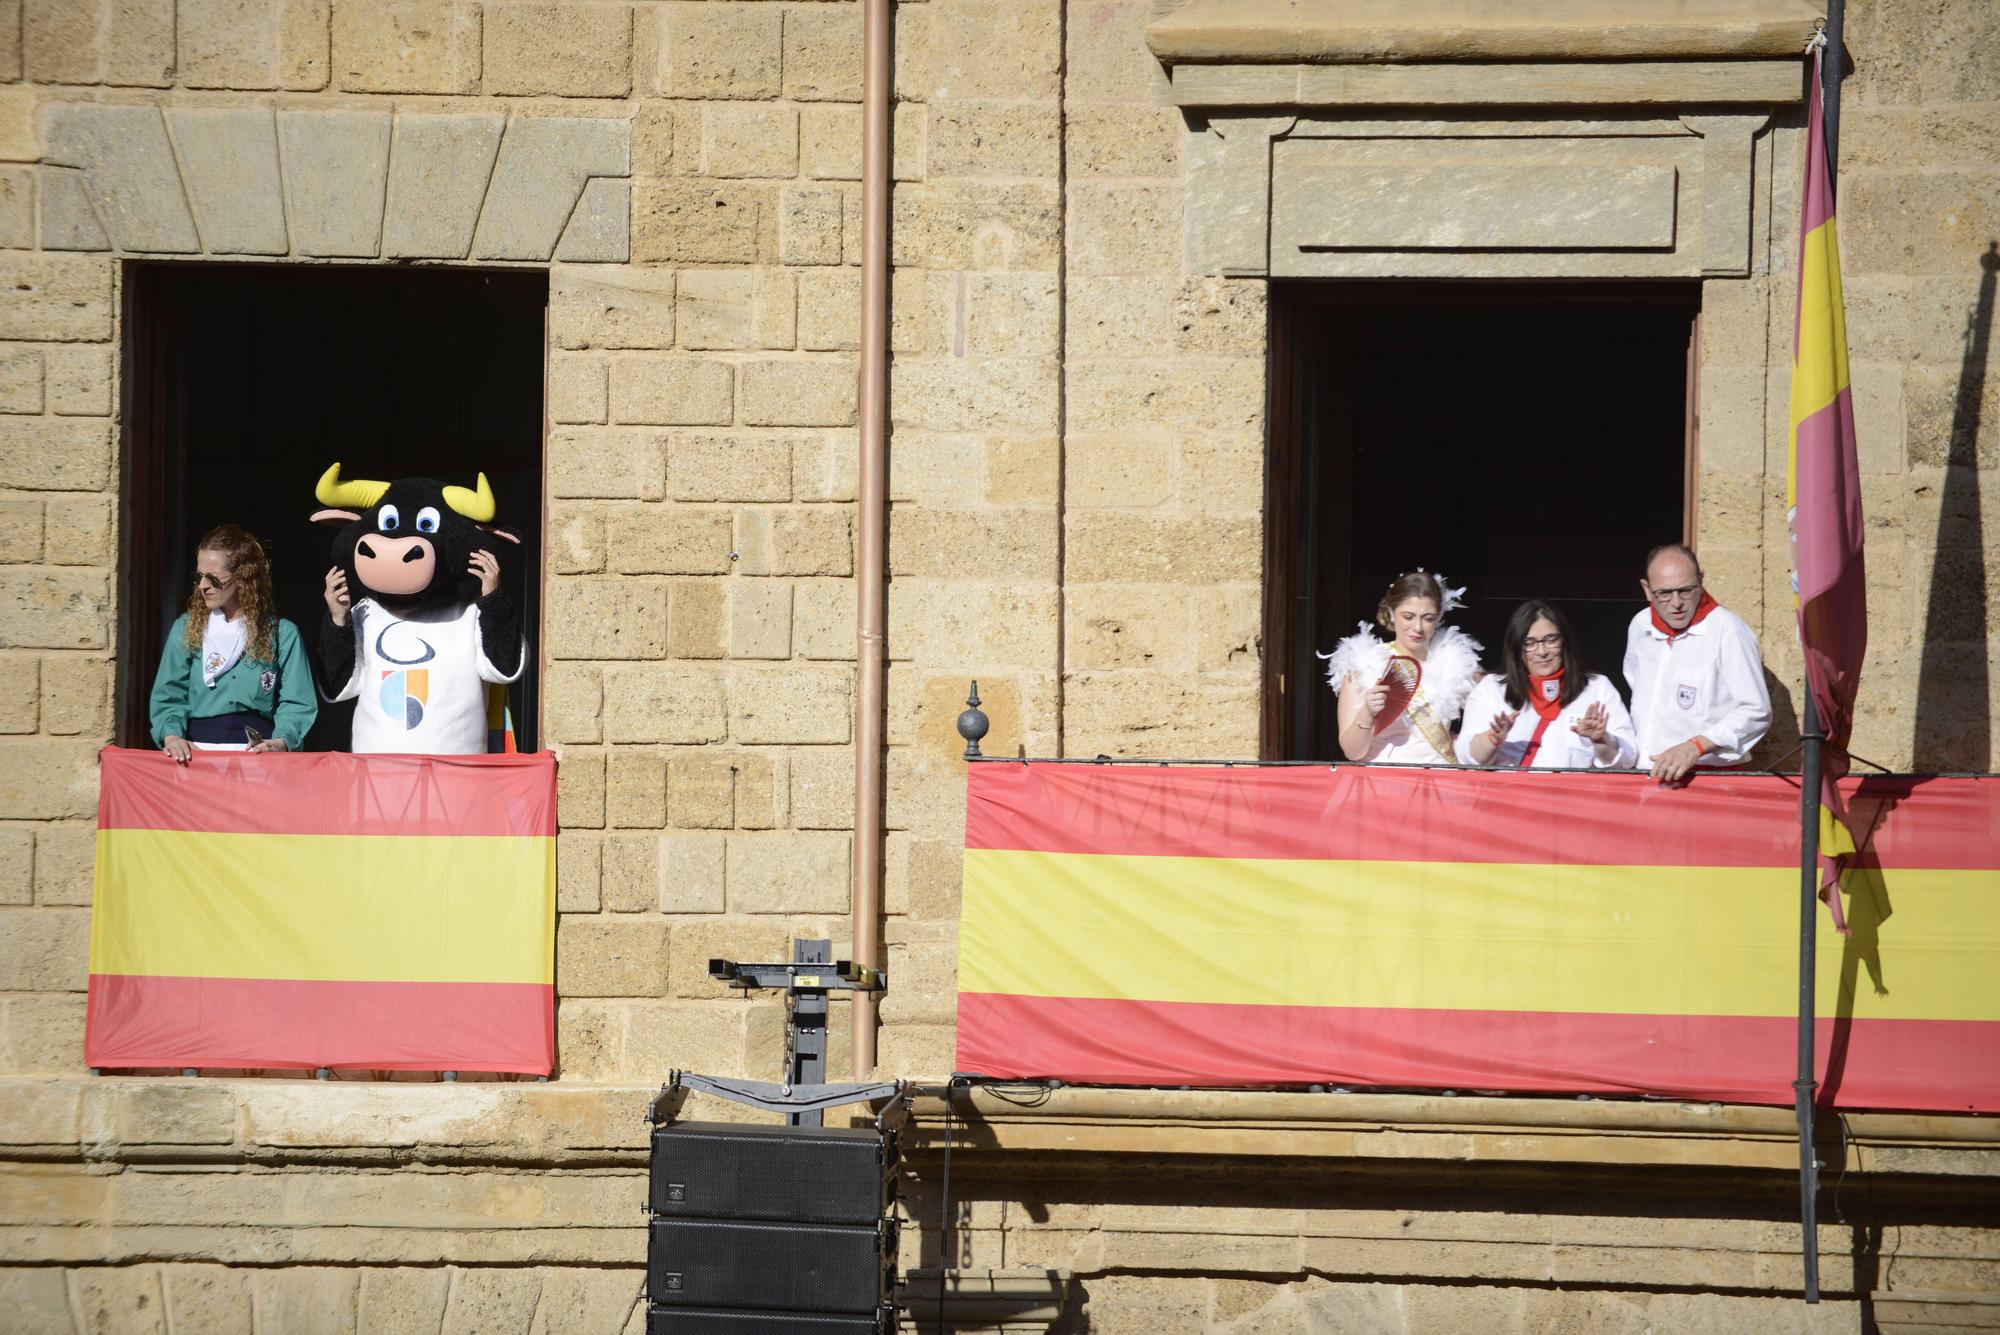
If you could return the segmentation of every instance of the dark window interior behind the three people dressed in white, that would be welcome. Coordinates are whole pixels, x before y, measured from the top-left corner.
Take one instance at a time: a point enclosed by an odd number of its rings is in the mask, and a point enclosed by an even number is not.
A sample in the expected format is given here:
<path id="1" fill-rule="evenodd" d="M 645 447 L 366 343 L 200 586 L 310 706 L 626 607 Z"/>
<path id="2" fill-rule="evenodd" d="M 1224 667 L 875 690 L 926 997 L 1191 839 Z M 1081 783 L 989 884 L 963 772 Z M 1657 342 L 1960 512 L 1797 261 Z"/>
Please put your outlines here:
<path id="1" fill-rule="evenodd" d="M 1624 687 L 1648 548 L 1686 536 L 1694 284 L 1272 288 L 1264 755 L 1328 759 L 1316 652 L 1418 566 L 1486 644 L 1526 598 Z"/>

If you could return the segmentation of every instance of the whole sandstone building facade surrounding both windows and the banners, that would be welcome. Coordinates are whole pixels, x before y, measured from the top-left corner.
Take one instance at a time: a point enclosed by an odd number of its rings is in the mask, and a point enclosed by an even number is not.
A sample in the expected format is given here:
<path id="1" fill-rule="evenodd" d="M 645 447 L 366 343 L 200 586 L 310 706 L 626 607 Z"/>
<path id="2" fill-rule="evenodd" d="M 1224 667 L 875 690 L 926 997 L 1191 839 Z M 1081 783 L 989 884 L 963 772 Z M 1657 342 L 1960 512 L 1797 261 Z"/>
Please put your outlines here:
<path id="1" fill-rule="evenodd" d="M 1694 536 L 1798 677 L 1802 112 L 1770 34 L 1812 6 L 1304 8 L 896 6 L 884 1073 L 952 1069 L 970 677 L 988 751 L 1260 751 L 1274 282 L 1698 282 Z M 1980 0 L 1848 14 L 1854 747 L 1892 767 L 2000 755 L 1996 44 Z M 646 1095 L 780 1049 L 706 961 L 846 935 L 860 52 L 854 0 L 0 4 L 14 1329 L 638 1329 Z M 1398 208 L 1336 204 L 1344 174 Z M 1470 180 L 1498 242 L 1454 230 Z M 154 652 L 118 638 L 124 294 L 192 260 L 548 274 L 550 1085 L 82 1071 L 96 751 L 120 656 Z M 1072 1095 L 978 1103 L 950 1251 L 910 1229 L 912 1265 L 994 1271 L 1034 1329 L 1046 1293 L 1078 1331 L 2000 1323 L 1988 1123 L 1854 1119 L 1806 1309 L 1780 1113 Z"/>

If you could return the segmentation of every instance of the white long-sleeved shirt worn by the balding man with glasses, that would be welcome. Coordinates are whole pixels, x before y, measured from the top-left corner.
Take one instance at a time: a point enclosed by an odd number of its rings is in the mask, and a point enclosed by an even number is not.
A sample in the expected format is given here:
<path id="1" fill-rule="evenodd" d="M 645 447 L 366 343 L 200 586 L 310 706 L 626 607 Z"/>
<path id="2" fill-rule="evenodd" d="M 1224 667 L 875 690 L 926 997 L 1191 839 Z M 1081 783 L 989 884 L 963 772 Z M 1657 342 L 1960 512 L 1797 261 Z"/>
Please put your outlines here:
<path id="1" fill-rule="evenodd" d="M 1728 608 L 1710 606 L 1672 636 L 1642 608 L 1626 630 L 1624 668 L 1642 765 L 1690 737 L 1708 741 L 1698 765 L 1740 765 L 1770 731 L 1764 658 Z"/>

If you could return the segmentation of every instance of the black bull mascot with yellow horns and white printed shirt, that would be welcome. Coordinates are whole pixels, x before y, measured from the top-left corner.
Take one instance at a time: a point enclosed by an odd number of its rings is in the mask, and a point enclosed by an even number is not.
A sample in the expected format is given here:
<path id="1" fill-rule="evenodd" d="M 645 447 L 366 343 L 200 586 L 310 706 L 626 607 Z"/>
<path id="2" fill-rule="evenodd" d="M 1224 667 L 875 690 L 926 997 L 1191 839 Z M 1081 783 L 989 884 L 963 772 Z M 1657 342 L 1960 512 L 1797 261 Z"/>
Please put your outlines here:
<path id="1" fill-rule="evenodd" d="M 430 478 L 342 482 L 314 492 L 316 524 L 342 524 L 326 572 L 320 669 L 328 699 L 354 699 L 354 751 L 486 751 L 486 685 L 520 679 L 528 644 L 500 588 L 494 494 Z"/>

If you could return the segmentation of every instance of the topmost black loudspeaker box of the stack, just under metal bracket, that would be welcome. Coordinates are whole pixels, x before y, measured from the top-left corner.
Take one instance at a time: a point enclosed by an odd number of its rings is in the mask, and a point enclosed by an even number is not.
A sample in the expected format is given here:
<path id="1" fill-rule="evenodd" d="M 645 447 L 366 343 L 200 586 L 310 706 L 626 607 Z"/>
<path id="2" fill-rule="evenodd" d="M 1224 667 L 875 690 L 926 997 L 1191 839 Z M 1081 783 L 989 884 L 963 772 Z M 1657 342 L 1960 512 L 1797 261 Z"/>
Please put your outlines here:
<path id="1" fill-rule="evenodd" d="M 874 1225 L 888 1213 L 894 1137 L 846 1127 L 674 1121 L 652 1131 L 650 1207 L 686 1219 Z"/>

